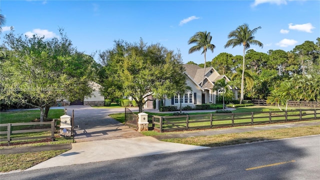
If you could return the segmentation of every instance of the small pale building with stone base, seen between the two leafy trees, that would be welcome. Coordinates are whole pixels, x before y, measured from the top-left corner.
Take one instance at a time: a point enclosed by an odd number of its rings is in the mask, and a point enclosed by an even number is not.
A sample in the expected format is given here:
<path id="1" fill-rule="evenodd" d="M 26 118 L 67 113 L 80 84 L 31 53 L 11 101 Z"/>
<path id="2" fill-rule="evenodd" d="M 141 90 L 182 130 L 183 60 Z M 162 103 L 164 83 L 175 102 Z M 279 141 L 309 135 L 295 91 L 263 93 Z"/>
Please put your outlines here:
<path id="1" fill-rule="evenodd" d="M 96 82 L 90 82 L 90 87 L 93 89 L 91 97 L 87 96 L 83 100 L 76 100 L 73 102 L 69 102 L 67 100 L 57 100 L 57 103 L 61 103 L 62 105 L 94 105 L 94 106 L 103 106 L 104 105 L 104 96 L 100 94 L 99 88 L 100 84 Z"/>

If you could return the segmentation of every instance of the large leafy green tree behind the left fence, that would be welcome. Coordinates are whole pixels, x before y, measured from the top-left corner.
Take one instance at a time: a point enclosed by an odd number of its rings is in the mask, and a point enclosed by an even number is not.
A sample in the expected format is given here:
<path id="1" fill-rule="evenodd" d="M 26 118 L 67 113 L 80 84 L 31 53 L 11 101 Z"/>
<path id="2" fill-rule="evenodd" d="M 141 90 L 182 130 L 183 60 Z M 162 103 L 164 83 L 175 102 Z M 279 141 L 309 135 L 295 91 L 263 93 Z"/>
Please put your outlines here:
<path id="1" fill-rule="evenodd" d="M 92 57 L 78 52 L 63 29 L 60 37 L 45 39 L 5 35 L 6 55 L 0 63 L 1 103 L 20 103 L 40 109 L 40 120 L 57 99 L 83 99 L 90 95 L 94 79 Z"/>

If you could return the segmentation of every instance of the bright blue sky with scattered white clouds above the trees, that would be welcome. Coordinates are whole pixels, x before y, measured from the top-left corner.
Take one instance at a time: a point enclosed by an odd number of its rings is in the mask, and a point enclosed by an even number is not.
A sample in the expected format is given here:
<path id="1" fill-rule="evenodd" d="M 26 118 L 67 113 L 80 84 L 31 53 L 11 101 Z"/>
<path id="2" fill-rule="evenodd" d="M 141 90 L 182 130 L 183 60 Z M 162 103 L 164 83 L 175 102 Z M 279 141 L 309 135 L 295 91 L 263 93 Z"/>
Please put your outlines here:
<path id="1" fill-rule="evenodd" d="M 113 40 L 161 43 L 179 49 L 186 63 L 203 63 L 200 51 L 188 54 L 188 39 L 209 31 L 216 48 L 207 61 L 221 52 L 241 55 L 242 47 L 224 48 L 227 35 L 238 25 L 261 26 L 255 37 L 263 48 L 289 51 L 305 40 L 320 37 L 320 0 L 0 0 L 6 18 L 3 35 L 13 26 L 16 33 L 56 36 L 64 28 L 78 50 L 87 54 L 112 48 Z"/>

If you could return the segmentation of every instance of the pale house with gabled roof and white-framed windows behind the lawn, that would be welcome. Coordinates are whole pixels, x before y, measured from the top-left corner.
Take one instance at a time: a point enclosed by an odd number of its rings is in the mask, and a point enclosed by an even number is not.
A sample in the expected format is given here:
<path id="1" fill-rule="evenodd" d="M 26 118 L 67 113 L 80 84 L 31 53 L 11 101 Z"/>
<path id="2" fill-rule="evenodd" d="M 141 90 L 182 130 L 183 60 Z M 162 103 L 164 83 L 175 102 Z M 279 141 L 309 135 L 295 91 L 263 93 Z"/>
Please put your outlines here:
<path id="1" fill-rule="evenodd" d="M 191 87 L 191 90 L 186 92 L 185 94 L 177 94 L 172 98 L 165 98 L 164 104 L 168 105 L 180 105 L 180 97 L 182 106 L 195 106 L 196 104 L 205 104 L 205 103 L 216 103 L 216 98 L 218 95 L 222 95 L 222 89 L 220 90 L 212 90 L 214 86 L 214 82 L 218 79 L 225 78 L 228 82 L 228 79 L 225 75 L 220 75 L 213 67 L 201 68 L 194 64 L 184 64 L 185 72 L 184 74 L 187 76 L 186 83 Z M 203 80 L 203 74 L 205 72 L 205 77 L 203 84 L 201 86 L 201 82 Z M 232 87 L 228 85 L 228 88 L 233 91 L 235 98 L 237 99 L 237 87 Z M 148 96 L 148 99 L 151 97 Z M 144 107 L 151 107 L 150 103 L 146 103 Z M 156 100 L 156 109 L 159 107 L 159 100 Z"/>

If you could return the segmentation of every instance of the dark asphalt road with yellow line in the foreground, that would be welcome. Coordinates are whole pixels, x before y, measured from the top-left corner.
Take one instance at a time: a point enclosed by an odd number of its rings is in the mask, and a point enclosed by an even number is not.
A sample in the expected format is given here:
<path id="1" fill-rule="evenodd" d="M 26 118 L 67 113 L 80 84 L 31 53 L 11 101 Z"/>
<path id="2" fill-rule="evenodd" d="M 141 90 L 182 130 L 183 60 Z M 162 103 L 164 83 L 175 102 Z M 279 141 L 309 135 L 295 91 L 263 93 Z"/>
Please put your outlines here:
<path id="1" fill-rule="evenodd" d="M 0 179 L 320 179 L 319 152 L 320 135 L 313 135 L 28 170 Z"/>

